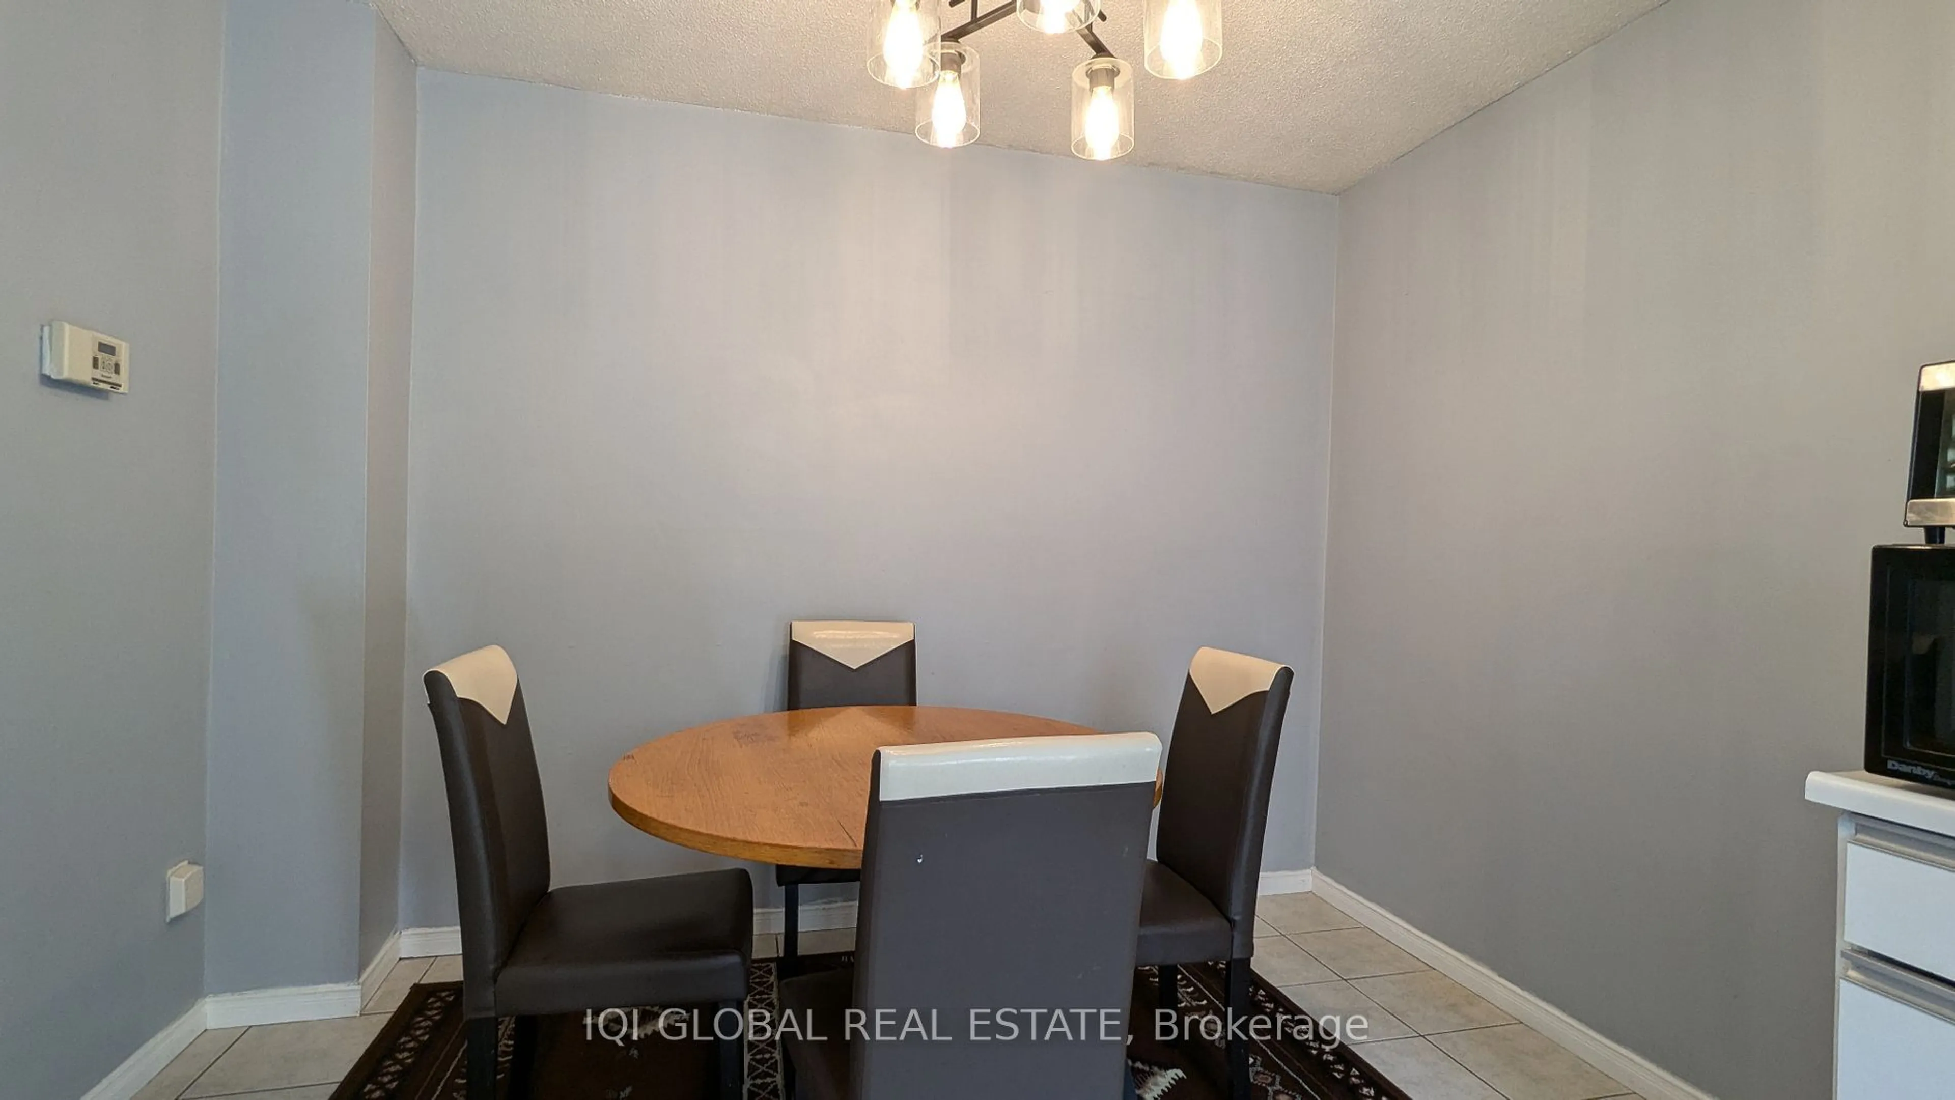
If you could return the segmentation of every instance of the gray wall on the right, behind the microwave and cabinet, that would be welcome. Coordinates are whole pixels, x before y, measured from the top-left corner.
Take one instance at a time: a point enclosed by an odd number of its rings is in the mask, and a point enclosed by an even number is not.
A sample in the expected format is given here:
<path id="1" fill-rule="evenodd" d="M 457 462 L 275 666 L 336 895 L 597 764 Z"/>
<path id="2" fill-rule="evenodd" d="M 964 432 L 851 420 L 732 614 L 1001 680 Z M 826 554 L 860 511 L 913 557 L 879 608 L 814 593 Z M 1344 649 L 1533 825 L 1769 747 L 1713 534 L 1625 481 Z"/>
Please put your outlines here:
<path id="1" fill-rule="evenodd" d="M 1828 1096 L 1951 41 L 1673 0 L 1341 205 L 1318 866 L 1726 1100 Z"/>

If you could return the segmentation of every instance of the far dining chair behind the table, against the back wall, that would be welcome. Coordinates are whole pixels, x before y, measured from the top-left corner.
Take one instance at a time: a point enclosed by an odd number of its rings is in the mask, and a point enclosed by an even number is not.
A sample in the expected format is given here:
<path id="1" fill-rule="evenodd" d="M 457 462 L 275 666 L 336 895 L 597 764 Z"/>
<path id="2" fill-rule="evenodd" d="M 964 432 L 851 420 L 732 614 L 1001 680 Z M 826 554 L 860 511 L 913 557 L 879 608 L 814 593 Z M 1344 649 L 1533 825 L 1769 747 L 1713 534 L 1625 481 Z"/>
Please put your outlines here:
<path id="1" fill-rule="evenodd" d="M 917 623 L 788 623 L 788 709 L 917 705 Z M 802 950 L 802 887 L 852 883 L 837 867 L 774 867 L 780 885 L 780 957 Z"/>

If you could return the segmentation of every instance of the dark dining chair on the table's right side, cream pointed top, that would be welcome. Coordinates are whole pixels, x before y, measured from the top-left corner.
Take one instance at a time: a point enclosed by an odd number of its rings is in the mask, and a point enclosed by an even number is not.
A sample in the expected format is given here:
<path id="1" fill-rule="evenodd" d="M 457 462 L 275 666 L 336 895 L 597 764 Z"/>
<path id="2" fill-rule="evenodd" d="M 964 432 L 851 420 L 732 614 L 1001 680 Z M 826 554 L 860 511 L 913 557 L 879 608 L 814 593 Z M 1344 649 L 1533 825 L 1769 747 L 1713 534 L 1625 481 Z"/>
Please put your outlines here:
<path id="1" fill-rule="evenodd" d="M 1140 903 L 1138 965 L 1159 967 L 1161 1010 L 1181 1010 L 1177 967 L 1220 961 L 1228 1012 L 1249 1012 L 1255 887 L 1290 680 L 1282 664 L 1224 649 L 1198 649 L 1189 662 Z M 1234 1030 L 1228 1075 L 1230 1098 L 1247 1100 L 1249 1049 Z"/>

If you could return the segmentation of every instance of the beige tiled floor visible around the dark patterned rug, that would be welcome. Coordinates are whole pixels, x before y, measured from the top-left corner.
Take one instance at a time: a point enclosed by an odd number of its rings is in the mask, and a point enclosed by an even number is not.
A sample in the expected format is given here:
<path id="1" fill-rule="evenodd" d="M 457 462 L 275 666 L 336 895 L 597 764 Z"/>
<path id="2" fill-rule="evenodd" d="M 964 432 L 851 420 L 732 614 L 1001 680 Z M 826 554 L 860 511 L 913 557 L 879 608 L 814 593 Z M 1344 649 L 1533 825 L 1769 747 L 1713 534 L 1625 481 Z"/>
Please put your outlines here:
<path id="1" fill-rule="evenodd" d="M 1335 1018 L 1359 1053 L 1413 1100 L 1634 1100 L 1324 899 L 1265 897 L 1257 909 L 1257 973 L 1312 1014 Z M 772 957 L 780 936 L 755 936 L 753 946 L 757 957 Z M 802 934 L 807 953 L 852 946 L 848 928 Z M 461 959 L 401 959 L 350 1020 L 205 1032 L 135 1100 L 326 1100 L 418 981 L 461 981 Z"/>

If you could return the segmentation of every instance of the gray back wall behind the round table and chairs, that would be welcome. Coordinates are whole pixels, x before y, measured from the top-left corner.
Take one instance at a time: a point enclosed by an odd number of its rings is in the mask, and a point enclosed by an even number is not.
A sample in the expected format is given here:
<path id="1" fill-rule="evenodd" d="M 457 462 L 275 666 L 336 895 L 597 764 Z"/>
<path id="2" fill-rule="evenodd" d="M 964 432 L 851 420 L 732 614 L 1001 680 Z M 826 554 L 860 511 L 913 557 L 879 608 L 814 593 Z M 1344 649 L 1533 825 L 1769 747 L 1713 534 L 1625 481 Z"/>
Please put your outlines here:
<path id="1" fill-rule="evenodd" d="M 403 922 L 454 924 L 418 672 L 518 660 L 557 879 L 714 864 L 610 764 L 780 705 L 790 617 L 919 623 L 929 703 L 1165 733 L 1298 668 L 1312 860 L 1335 201 L 424 72 Z"/>

